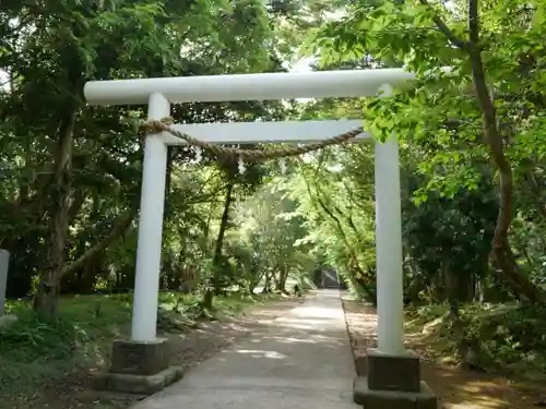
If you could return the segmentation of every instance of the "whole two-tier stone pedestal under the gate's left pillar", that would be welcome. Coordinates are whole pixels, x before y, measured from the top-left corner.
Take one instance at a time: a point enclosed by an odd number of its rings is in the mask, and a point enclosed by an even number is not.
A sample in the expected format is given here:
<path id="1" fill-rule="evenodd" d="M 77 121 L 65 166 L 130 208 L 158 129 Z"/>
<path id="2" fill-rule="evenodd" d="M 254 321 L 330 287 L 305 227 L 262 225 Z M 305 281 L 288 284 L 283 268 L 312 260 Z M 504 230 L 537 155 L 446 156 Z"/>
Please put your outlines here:
<path id="1" fill-rule="evenodd" d="M 111 365 L 107 373 L 93 377 L 98 390 L 151 395 L 182 377 L 182 370 L 168 365 L 166 339 L 154 342 L 114 341 Z"/>

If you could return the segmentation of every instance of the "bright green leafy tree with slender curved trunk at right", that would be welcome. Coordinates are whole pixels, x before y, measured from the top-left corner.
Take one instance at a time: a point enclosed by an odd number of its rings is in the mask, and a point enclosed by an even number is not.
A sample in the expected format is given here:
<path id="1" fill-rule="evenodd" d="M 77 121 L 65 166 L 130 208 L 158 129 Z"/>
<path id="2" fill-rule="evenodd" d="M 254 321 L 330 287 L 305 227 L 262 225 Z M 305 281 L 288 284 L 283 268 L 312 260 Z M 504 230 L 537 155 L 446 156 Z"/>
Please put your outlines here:
<path id="1" fill-rule="evenodd" d="M 407 141 L 430 140 L 436 154 L 420 168 L 435 176 L 435 189 L 447 195 L 460 185 L 475 189 L 476 170 L 470 161 L 490 161 L 499 202 L 492 238 L 496 265 L 517 294 L 544 303 L 544 291 L 521 272 L 509 241 L 515 212 L 512 166 L 529 144 L 529 133 L 542 129 L 542 120 L 530 121 L 530 108 L 541 109 L 531 89 L 542 82 L 536 69 L 544 58 L 537 44 L 543 17 L 535 12 L 537 3 L 482 4 L 468 0 L 463 10 L 458 2 L 452 11 L 426 0 L 354 5 L 346 17 L 319 31 L 314 44 L 325 61 L 371 56 L 404 62 L 417 73 L 412 89 L 367 104 L 367 127 L 378 137 L 395 131 Z M 332 37 L 337 40 L 332 43 Z M 449 73 L 440 70 L 447 65 L 453 67 Z"/>

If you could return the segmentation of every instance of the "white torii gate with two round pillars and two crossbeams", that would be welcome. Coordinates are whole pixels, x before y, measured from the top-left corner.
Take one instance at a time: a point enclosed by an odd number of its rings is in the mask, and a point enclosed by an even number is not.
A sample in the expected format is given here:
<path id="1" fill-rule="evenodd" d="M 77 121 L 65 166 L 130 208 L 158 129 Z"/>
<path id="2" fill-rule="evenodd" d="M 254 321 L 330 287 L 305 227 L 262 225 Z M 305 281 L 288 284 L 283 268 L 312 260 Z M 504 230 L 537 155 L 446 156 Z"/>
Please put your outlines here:
<path id="1" fill-rule="evenodd" d="M 166 79 L 94 81 L 84 94 L 92 105 L 149 105 L 149 119 L 170 116 L 170 104 L 266 100 L 283 98 L 372 97 L 391 95 L 393 86 L 414 75 L 403 69 L 346 70 L 307 73 L 205 75 Z M 296 143 L 330 139 L 361 125 L 361 121 L 287 121 L 176 124 L 173 129 L 217 144 Z M 370 139 L 368 133 L 359 137 Z M 134 342 L 156 341 L 159 264 L 167 145 L 185 141 L 167 133 L 149 134 L 136 250 L 136 275 L 131 327 Z M 402 226 L 399 145 L 395 137 L 376 142 L 376 252 L 378 349 L 404 353 Z"/>

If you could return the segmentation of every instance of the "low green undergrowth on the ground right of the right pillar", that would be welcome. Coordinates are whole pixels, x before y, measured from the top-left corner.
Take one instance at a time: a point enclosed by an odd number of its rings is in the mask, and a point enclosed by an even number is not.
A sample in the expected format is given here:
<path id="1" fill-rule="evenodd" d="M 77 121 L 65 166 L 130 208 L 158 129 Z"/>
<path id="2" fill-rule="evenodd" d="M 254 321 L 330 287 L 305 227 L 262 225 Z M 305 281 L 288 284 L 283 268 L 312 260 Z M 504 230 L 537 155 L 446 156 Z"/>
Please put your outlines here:
<path id="1" fill-rule="evenodd" d="M 471 345 L 480 369 L 535 376 L 546 372 L 546 309 L 522 304 L 465 304 L 455 332 L 447 304 L 408 310 L 408 326 L 423 332 L 432 353 L 460 362 L 461 342 Z M 459 335 L 456 335 L 459 334 Z"/>

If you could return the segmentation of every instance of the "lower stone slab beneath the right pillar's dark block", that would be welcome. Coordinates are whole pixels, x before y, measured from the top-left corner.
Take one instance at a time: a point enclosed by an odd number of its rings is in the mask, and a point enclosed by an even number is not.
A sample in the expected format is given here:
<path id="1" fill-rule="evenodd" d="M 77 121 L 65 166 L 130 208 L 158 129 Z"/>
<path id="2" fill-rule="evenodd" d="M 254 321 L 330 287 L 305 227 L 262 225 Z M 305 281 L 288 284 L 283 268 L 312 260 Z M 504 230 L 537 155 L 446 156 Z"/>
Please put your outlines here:
<path id="1" fill-rule="evenodd" d="M 353 401 L 364 409 L 439 409 L 436 395 L 424 382 L 420 392 L 370 389 L 368 378 L 358 376 L 353 384 Z"/>

